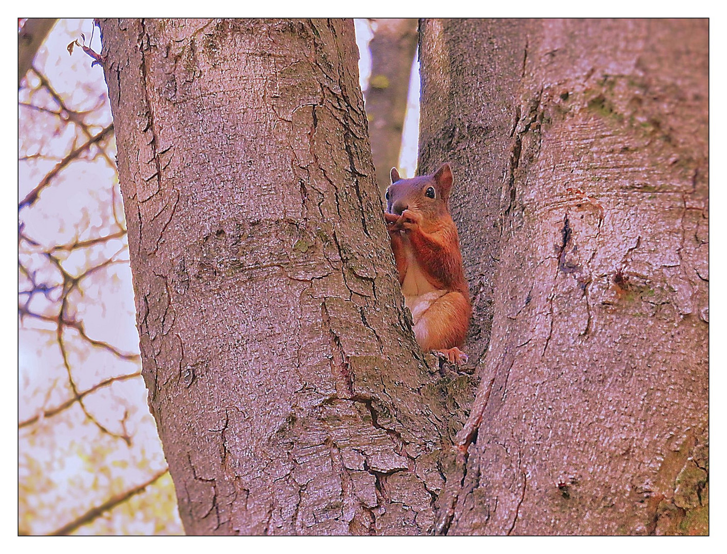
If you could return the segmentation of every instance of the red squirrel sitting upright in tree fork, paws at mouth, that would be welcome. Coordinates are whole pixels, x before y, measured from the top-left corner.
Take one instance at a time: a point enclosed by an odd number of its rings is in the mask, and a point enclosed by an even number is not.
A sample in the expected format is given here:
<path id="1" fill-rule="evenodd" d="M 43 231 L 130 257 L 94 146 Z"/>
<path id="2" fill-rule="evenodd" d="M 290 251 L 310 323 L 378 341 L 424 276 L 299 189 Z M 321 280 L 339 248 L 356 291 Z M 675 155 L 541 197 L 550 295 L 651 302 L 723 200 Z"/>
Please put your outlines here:
<path id="1" fill-rule="evenodd" d="M 463 364 L 467 354 L 460 347 L 472 304 L 457 226 L 449 215 L 452 182 L 449 163 L 433 175 L 413 179 L 401 179 L 392 168 L 384 216 L 417 343 L 424 351 Z"/>

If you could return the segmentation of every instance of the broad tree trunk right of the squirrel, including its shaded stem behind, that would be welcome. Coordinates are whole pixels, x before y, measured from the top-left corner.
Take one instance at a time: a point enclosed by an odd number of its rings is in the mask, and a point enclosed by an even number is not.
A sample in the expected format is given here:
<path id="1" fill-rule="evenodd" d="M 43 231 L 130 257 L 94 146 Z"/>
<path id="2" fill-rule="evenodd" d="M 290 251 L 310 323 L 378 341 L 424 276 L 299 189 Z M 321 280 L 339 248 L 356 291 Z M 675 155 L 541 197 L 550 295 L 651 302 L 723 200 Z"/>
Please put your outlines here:
<path id="1" fill-rule="evenodd" d="M 707 21 L 421 28 L 470 348 L 494 313 L 438 531 L 707 533 Z"/>

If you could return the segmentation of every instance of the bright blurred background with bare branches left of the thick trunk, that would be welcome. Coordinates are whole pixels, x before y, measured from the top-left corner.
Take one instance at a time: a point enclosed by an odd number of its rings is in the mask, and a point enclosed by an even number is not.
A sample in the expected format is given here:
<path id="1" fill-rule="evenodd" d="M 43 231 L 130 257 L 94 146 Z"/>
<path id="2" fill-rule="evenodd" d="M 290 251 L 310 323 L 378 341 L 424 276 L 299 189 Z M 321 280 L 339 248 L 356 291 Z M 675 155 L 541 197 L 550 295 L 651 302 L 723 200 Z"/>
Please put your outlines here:
<path id="1" fill-rule="evenodd" d="M 103 69 L 67 49 L 81 34 L 100 52 L 92 20 L 58 20 L 18 89 L 18 531 L 181 534 L 140 377 Z"/>

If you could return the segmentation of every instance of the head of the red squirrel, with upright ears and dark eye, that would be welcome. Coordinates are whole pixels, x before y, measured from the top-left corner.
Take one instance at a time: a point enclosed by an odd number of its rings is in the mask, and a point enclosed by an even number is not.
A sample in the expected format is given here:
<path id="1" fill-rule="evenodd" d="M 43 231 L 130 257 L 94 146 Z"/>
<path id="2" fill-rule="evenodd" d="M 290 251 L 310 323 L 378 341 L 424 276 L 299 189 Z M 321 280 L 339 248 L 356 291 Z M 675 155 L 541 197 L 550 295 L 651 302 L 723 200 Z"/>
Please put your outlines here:
<path id="1" fill-rule="evenodd" d="M 413 179 L 401 179 L 396 168 L 391 168 L 391 184 L 386 190 L 386 211 L 401 215 L 404 210 L 411 210 L 425 217 L 449 213 L 452 180 L 449 163 L 444 163 L 432 175 Z"/>

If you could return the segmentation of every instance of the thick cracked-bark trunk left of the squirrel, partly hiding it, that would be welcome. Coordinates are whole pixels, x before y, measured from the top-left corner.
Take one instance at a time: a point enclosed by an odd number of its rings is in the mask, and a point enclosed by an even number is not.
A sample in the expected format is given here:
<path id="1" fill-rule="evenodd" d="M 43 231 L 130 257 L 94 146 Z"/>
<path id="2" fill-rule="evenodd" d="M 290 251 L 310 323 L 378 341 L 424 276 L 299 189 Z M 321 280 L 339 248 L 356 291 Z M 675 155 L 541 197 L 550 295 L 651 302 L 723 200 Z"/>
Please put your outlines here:
<path id="1" fill-rule="evenodd" d="M 430 532 L 465 414 L 398 292 L 353 23 L 101 27 L 142 373 L 185 530 Z"/>

